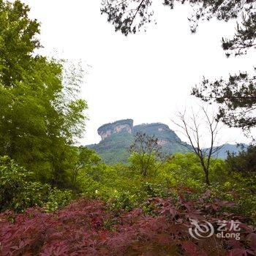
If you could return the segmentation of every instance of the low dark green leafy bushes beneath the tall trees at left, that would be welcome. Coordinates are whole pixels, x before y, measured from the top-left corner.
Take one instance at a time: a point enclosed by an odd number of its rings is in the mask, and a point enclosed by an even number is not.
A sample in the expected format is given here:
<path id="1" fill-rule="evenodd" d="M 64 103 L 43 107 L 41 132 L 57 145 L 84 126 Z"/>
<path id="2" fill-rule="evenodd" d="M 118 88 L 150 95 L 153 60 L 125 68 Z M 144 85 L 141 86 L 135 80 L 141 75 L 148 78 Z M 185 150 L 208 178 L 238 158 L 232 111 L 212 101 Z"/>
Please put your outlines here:
<path id="1" fill-rule="evenodd" d="M 44 206 L 55 211 L 72 198 L 69 190 L 51 188 L 33 179 L 34 173 L 15 164 L 9 157 L 0 157 L 0 211 L 24 211 L 32 206 Z"/>

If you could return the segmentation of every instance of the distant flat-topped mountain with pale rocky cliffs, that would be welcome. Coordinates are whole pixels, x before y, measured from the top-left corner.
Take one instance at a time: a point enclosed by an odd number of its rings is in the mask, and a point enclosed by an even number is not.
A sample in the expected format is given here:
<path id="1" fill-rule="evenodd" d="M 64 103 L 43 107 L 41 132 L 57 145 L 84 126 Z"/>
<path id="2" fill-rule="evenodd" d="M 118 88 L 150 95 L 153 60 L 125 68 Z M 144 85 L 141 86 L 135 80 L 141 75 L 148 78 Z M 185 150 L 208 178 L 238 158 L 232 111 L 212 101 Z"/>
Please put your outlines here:
<path id="1" fill-rule="evenodd" d="M 158 138 L 159 145 L 165 154 L 175 154 L 177 152 L 186 153 L 189 151 L 189 144 L 184 143 L 178 138 L 178 135 L 166 124 L 139 124 L 133 126 L 132 119 L 118 120 L 113 123 L 103 124 L 97 130 L 102 140 L 98 144 L 88 147 L 97 151 L 107 164 L 116 164 L 118 162 L 127 163 L 129 152 L 127 148 L 132 144 L 137 132 Z M 239 151 L 236 145 L 225 144 L 215 157 L 225 159 L 227 152 Z"/>

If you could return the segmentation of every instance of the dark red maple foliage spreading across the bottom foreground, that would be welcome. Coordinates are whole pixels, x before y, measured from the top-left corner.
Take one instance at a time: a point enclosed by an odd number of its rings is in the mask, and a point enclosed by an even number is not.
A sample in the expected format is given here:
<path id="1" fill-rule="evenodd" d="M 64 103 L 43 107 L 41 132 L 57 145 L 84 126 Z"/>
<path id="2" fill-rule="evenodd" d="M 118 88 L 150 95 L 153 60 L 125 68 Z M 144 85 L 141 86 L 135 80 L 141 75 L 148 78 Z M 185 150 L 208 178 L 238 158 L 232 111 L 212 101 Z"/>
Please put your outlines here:
<path id="1" fill-rule="evenodd" d="M 221 211 L 232 203 L 205 198 L 188 202 L 180 195 L 151 198 L 133 211 L 109 211 L 99 200 L 80 198 L 66 208 L 45 213 L 29 208 L 23 214 L 0 214 L 0 255 L 256 255 L 255 228 L 241 224 L 241 239 L 189 235 L 189 218 L 239 219 Z"/>

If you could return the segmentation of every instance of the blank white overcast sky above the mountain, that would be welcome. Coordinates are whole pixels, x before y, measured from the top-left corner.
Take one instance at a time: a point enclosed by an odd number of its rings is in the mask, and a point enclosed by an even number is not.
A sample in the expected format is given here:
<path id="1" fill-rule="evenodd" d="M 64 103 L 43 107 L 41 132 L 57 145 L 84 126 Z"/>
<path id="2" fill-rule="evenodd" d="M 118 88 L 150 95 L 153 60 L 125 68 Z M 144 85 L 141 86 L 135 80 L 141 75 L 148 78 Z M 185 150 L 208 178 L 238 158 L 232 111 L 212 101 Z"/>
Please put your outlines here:
<path id="1" fill-rule="evenodd" d="M 255 64 L 255 53 L 227 59 L 222 51 L 221 39 L 233 35 L 235 23 L 201 23 L 192 35 L 188 7 L 170 10 L 157 1 L 157 25 L 124 37 L 100 15 L 100 0 L 24 2 L 42 24 L 43 52 L 50 56 L 57 50 L 66 59 L 85 63 L 82 97 L 89 104 L 89 121 L 83 144 L 99 142 L 97 128 L 123 118 L 176 129 L 170 119 L 186 105 L 196 108 L 198 100 L 189 94 L 203 75 L 226 78 L 239 70 L 252 71 Z M 224 128 L 221 141 L 248 140 L 240 129 Z"/>

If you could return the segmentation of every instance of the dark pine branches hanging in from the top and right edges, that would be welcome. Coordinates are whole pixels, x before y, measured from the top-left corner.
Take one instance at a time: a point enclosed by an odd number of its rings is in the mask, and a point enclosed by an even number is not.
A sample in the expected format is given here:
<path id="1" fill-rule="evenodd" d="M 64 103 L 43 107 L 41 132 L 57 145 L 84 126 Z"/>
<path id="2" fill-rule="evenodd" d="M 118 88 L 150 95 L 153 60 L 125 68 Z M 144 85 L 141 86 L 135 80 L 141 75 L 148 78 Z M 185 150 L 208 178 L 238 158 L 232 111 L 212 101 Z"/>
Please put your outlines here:
<path id="1" fill-rule="evenodd" d="M 233 38 L 222 38 L 222 48 L 227 56 L 246 54 L 256 42 L 255 0 L 163 0 L 162 4 L 173 9 L 176 3 L 189 4 L 194 13 L 189 18 L 191 31 L 195 33 L 200 20 L 237 20 Z M 116 31 L 128 35 L 136 33 L 151 22 L 154 10 L 152 0 L 102 0 L 102 13 L 108 15 Z M 217 102 L 218 118 L 229 127 L 241 127 L 245 131 L 256 126 L 256 76 L 247 72 L 230 75 L 228 80 L 203 79 L 192 94 L 206 102 Z"/>

